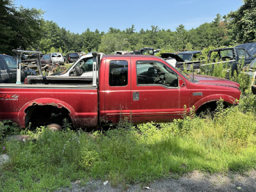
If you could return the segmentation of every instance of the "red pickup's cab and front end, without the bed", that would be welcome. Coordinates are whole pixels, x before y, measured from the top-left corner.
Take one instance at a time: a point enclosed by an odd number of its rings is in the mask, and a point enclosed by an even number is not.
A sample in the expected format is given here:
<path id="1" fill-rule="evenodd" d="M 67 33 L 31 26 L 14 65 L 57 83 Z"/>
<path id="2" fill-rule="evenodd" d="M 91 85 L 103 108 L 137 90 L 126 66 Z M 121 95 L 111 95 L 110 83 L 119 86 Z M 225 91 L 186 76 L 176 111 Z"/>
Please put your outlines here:
<path id="1" fill-rule="evenodd" d="M 200 111 L 220 98 L 232 104 L 240 97 L 237 83 L 184 76 L 155 56 L 103 56 L 99 76 L 100 121 L 105 123 L 116 123 L 120 113 L 134 123 L 168 122 L 182 118 L 184 106 Z"/>

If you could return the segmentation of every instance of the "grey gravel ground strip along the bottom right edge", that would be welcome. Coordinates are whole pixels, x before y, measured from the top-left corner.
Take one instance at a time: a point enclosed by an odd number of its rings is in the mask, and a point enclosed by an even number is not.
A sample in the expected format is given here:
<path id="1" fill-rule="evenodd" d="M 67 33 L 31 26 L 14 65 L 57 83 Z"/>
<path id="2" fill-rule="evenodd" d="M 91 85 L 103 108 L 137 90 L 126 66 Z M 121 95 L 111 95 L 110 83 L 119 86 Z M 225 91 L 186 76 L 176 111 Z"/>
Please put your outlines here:
<path id="1" fill-rule="evenodd" d="M 79 180 L 72 183 L 72 188 L 62 188 L 60 191 L 256 191 L 256 170 L 244 173 L 227 173 L 210 175 L 194 171 L 179 179 L 163 179 L 150 184 L 135 184 L 112 188 L 110 183 L 102 180 L 92 180 L 86 186 L 80 186 Z"/>

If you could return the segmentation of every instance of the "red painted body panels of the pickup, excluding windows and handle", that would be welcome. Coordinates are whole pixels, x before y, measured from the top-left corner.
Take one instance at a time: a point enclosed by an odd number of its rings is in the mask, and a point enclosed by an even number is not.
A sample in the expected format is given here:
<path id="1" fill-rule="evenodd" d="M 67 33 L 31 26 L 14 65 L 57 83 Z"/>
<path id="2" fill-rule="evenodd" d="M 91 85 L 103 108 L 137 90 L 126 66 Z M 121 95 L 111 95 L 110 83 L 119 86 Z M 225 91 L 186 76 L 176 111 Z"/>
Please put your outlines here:
<path id="1" fill-rule="evenodd" d="M 109 61 L 125 60 L 128 63 L 128 82 L 126 86 L 109 86 Z M 99 74 L 99 115 L 97 89 L 56 88 L 42 86 L 0 84 L 0 119 L 10 119 L 20 127 L 25 126 L 25 112 L 29 106 L 52 105 L 66 108 L 74 127 L 96 127 L 100 123 L 116 123 L 120 113 L 132 116 L 132 122 L 166 122 L 181 118 L 184 105 L 188 109 L 222 98 L 234 103 L 241 92 L 239 84 L 218 77 L 195 76 L 199 80 L 193 83 L 178 70 L 172 70 L 179 76 L 179 86 L 168 88 L 159 84 L 138 85 L 136 61 L 150 60 L 164 63 L 156 56 L 104 56 L 100 63 Z M 133 93 L 139 93 L 140 99 L 134 100 Z M 194 95 L 193 95 L 194 93 Z"/>

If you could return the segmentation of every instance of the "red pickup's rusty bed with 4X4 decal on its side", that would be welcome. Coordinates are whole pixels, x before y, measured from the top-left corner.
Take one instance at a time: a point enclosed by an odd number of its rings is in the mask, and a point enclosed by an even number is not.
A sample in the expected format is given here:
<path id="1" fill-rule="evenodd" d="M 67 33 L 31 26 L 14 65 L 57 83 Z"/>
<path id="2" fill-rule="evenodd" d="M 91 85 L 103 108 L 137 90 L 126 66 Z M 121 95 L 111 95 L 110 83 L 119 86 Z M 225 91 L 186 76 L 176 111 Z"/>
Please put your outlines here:
<path id="1" fill-rule="evenodd" d="M 97 126 L 97 87 L 72 83 L 1 83 L 0 119 L 10 119 L 20 127 L 26 127 L 31 118 L 33 125 L 39 126 L 42 124 L 38 122 L 45 122 L 47 125 L 48 119 L 63 119 L 67 116 L 74 127 Z M 29 111 L 35 112 L 33 116 Z"/>

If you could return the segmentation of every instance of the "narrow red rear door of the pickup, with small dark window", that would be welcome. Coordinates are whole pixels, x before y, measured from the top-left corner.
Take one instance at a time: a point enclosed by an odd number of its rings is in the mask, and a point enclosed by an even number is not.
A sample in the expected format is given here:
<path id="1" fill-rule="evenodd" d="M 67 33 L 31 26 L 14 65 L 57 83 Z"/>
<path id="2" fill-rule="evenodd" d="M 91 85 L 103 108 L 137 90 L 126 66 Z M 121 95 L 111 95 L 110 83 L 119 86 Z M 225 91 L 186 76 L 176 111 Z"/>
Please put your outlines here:
<path id="1" fill-rule="evenodd" d="M 131 58 L 106 60 L 104 88 L 105 121 L 116 124 L 131 113 Z M 101 94 L 101 93 L 100 93 Z"/>

